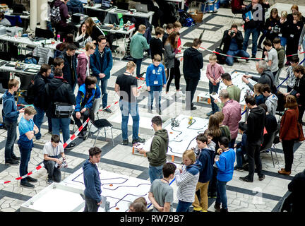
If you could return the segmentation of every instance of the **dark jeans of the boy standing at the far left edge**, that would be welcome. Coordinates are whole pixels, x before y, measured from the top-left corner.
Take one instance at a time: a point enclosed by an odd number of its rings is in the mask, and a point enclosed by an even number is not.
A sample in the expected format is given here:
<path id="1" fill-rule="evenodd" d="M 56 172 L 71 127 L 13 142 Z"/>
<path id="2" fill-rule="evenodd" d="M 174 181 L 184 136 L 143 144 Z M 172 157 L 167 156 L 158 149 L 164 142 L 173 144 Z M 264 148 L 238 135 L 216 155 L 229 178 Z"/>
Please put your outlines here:
<path id="1" fill-rule="evenodd" d="M 11 121 L 4 121 L 4 124 L 6 125 L 7 129 L 7 138 L 6 138 L 6 146 L 4 149 L 4 156 L 5 160 L 11 160 L 13 157 L 13 144 L 15 143 L 17 139 L 17 121 L 11 122 Z"/>

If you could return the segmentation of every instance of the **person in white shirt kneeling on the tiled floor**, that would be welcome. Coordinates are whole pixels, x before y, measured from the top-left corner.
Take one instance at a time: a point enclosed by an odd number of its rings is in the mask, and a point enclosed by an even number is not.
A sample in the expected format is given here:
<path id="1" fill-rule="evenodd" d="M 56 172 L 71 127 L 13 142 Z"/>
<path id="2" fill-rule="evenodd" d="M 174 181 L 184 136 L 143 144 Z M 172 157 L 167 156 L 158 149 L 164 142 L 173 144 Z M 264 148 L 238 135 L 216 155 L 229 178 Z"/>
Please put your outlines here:
<path id="1" fill-rule="evenodd" d="M 67 167 L 66 156 L 64 154 L 64 145 L 60 142 L 60 137 L 58 135 L 52 135 L 51 141 L 44 144 L 44 167 L 48 172 L 47 184 L 52 184 L 54 182 L 59 183 L 61 181 L 61 166 Z M 62 161 L 59 160 L 59 153 L 63 158 Z"/>

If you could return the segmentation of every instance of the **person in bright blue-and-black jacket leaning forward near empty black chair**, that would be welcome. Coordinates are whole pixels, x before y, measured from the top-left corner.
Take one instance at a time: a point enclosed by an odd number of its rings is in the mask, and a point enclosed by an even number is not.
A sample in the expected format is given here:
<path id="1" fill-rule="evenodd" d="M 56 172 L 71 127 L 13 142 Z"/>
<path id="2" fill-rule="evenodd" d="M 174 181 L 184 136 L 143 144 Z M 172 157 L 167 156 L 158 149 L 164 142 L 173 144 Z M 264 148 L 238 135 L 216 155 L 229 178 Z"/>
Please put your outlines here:
<path id="1" fill-rule="evenodd" d="M 73 113 L 73 119 L 76 122 L 78 128 L 82 125 L 80 117 L 83 115 L 83 123 L 90 117 L 94 120 L 94 112 L 92 112 L 93 102 L 96 98 L 100 98 L 100 88 L 97 83 L 97 78 L 88 76 L 85 78 L 85 83 L 80 85 L 78 95 L 76 96 L 76 107 Z M 80 136 L 85 139 L 85 131 L 87 131 L 87 125 L 80 131 Z"/>

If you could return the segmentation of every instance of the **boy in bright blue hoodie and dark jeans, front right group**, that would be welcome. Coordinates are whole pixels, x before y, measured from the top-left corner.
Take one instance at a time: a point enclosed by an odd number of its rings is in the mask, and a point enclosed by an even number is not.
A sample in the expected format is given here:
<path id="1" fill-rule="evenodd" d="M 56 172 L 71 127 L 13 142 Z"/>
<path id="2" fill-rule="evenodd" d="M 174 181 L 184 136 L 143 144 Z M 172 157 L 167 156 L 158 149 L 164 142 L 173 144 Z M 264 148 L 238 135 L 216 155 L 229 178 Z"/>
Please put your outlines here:
<path id="1" fill-rule="evenodd" d="M 222 136 L 218 141 L 220 148 L 217 152 L 220 154 L 219 159 L 215 157 L 215 164 L 218 168 L 217 173 L 217 198 L 214 208 L 215 212 L 228 212 L 227 209 L 227 182 L 232 180 L 235 162 L 235 152 L 229 148 L 229 138 Z M 220 203 L 222 208 L 220 209 Z"/>

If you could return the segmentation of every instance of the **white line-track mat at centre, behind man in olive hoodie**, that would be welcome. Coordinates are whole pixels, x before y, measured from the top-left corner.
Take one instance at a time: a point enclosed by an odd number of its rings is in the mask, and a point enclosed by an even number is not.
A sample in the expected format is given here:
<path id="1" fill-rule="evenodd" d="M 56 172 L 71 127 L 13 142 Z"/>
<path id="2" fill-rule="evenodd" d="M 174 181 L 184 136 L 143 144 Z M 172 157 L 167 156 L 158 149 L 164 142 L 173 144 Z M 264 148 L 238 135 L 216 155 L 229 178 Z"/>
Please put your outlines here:
<path id="1" fill-rule="evenodd" d="M 169 147 L 167 155 L 182 157 L 185 150 L 196 147 L 196 136 L 208 129 L 208 119 L 193 117 L 193 122 L 189 125 L 189 116 L 180 114 L 176 120 L 180 121 L 179 126 L 174 127 L 170 123 L 164 126 L 169 134 Z M 169 119 L 170 121 L 170 119 Z M 140 145 L 144 150 L 150 150 L 152 138 Z"/>

